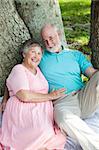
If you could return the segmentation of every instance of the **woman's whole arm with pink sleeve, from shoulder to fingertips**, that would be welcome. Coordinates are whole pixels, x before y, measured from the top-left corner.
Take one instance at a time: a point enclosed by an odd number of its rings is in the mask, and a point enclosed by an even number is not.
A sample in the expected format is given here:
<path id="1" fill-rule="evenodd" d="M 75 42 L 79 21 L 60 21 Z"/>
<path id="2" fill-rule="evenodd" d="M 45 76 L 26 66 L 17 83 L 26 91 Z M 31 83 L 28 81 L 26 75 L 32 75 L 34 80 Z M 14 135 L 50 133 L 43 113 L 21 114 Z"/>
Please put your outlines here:
<path id="1" fill-rule="evenodd" d="M 23 102 L 44 102 L 48 100 L 54 100 L 64 95 L 65 89 L 53 91 L 49 94 L 35 93 L 29 90 L 29 81 L 26 72 L 22 65 L 16 65 L 8 79 L 7 85 L 11 88 L 14 95 Z M 23 90 L 26 89 L 26 90 Z"/>

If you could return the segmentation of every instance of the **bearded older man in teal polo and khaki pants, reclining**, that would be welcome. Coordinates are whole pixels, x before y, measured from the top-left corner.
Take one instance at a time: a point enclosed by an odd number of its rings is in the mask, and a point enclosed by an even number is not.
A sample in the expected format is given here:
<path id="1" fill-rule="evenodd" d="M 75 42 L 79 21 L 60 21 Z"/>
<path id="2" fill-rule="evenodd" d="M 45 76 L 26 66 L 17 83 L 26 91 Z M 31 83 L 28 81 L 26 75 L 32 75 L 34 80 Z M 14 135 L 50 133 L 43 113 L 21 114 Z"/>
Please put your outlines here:
<path id="1" fill-rule="evenodd" d="M 46 49 L 40 68 L 48 80 L 49 90 L 65 88 L 67 94 L 54 102 L 55 121 L 82 149 L 98 150 L 96 126 L 92 129 L 84 120 L 88 120 L 99 106 L 99 72 L 81 52 L 64 48 L 56 26 L 45 25 L 41 36 Z M 86 85 L 81 74 L 90 79 Z"/>

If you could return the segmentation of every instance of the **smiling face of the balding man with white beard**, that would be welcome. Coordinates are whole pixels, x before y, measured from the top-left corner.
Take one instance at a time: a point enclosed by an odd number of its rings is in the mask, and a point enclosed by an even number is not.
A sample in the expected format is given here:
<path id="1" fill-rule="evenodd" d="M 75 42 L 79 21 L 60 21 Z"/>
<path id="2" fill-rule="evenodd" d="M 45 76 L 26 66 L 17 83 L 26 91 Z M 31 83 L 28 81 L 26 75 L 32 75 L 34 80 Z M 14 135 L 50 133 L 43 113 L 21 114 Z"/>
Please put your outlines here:
<path id="1" fill-rule="evenodd" d="M 61 50 L 61 41 L 58 32 L 50 27 L 42 31 L 42 39 L 45 47 L 50 52 L 59 52 Z"/>

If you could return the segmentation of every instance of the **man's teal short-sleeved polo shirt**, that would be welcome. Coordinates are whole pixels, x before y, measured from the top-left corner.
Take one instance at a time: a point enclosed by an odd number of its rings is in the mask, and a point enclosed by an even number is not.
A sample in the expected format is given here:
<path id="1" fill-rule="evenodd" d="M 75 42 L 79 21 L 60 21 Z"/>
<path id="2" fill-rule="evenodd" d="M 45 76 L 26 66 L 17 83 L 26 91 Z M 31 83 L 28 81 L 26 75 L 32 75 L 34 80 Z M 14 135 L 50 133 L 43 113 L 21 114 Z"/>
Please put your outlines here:
<path id="1" fill-rule="evenodd" d="M 39 66 L 49 83 L 49 91 L 65 88 L 68 94 L 84 86 L 81 74 L 92 64 L 77 50 L 62 50 L 59 53 L 45 50 Z"/>

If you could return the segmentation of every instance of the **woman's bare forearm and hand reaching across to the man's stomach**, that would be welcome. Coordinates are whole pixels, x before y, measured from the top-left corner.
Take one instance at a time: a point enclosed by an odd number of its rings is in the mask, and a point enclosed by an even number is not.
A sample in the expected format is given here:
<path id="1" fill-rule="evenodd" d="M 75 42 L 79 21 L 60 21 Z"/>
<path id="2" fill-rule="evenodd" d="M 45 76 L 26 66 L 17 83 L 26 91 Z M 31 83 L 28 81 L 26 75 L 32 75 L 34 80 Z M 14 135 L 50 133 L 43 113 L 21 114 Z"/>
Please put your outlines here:
<path id="1" fill-rule="evenodd" d="M 65 89 L 59 89 L 56 91 L 52 91 L 48 94 L 42 94 L 42 93 L 35 93 L 33 91 L 29 90 L 20 90 L 16 93 L 16 97 L 23 102 L 45 102 L 49 100 L 55 100 L 57 98 L 60 98 L 62 96 L 65 96 Z"/>

